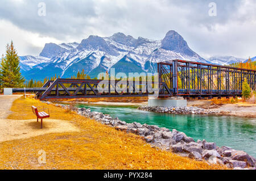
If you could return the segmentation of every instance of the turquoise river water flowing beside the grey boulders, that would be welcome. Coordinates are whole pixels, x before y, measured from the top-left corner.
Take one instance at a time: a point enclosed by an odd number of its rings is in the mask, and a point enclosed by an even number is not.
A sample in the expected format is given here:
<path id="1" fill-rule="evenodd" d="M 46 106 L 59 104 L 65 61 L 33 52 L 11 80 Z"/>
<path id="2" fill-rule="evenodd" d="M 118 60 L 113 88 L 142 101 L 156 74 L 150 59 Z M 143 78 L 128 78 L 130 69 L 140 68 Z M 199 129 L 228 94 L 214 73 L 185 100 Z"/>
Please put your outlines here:
<path id="1" fill-rule="evenodd" d="M 168 129 L 177 129 L 187 136 L 216 142 L 217 146 L 230 146 L 243 150 L 256 157 L 256 120 L 234 116 L 175 115 L 138 110 L 133 106 L 95 106 L 79 104 L 77 107 L 90 108 L 118 117 L 126 123 L 158 125 Z"/>

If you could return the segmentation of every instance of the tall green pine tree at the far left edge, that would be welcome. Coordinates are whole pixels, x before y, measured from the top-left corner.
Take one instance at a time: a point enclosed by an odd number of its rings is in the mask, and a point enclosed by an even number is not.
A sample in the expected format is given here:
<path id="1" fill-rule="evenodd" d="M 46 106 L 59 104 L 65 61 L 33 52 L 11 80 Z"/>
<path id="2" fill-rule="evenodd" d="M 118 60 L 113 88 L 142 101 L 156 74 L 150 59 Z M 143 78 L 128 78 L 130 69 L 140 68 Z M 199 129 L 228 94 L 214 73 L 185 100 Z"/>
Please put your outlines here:
<path id="1" fill-rule="evenodd" d="M 19 57 L 14 49 L 13 41 L 6 46 L 6 56 L 2 58 L 0 80 L 3 87 L 22 87 L 24 78 L 20 73 Z"/>

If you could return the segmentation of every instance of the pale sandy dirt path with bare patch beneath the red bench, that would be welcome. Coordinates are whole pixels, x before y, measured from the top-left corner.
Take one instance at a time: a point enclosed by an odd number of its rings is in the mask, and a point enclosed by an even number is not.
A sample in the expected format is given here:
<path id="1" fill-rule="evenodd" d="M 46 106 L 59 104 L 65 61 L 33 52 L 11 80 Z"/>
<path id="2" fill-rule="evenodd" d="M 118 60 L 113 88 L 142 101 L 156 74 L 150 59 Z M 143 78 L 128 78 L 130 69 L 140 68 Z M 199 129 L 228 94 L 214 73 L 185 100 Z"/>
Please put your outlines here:
<path id="1" fill-rule="evenodd" d="M 21 95 L 0 95 L 0 142 L 39 136 L 47 133 L 78 132 L 80 129 L 71 121 L 44 119 L 43 129 L 40 121 L 10 120 L 6 117 L 11 113 L 10 108 L 15 99 Z"/>

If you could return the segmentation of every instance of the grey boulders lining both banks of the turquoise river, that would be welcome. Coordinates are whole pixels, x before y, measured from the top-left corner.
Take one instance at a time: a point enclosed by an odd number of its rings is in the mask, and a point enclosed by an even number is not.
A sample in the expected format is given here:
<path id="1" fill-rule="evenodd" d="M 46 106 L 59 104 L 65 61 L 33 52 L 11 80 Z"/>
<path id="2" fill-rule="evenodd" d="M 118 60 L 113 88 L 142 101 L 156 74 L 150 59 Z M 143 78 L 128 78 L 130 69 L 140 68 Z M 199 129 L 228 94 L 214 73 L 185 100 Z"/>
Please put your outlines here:
<path id="1" fill-rule="evenodd" d="M 140 123 L 126 123 L 116 117 L 113 119 L 110 115 L 104 115 L 101 112 L 92 112 L 86 108 L 75 108 L 63 104 L 55 104 L 65 109 L 72 109 L 79 115 L 89 117 L 102 124 L 113 127 L 118 131 L 138 134 L 143 137 L 146 142 L 152 147 L 163 150 L 172 151 L 183 155 L 184 157 L 193 158 L 199 161 L 207 161 L 210 164 L 221 164 L 233 169 L 256 170 L 256 159 L 245 151 L 234 150 L 228 146 L 218 147 L 214 142 L 207 142 L 205 140 L 194 141 L 193 138 L 188 137 L 185 133 L 167 128 L 159 128 L 156 125 L 140 124 Z M 205 113 L 201 108 L 168 108 L 168 111 L 162 108 L 152 108 L 160 112 L 176 112 L 176 113 Z M 147 107 L 142 107 L 141 110 L 148 110 Z M 172 111 L 171 111 L 172 110 Z M 175 111 L 176 110 L 176 111 Z"/>

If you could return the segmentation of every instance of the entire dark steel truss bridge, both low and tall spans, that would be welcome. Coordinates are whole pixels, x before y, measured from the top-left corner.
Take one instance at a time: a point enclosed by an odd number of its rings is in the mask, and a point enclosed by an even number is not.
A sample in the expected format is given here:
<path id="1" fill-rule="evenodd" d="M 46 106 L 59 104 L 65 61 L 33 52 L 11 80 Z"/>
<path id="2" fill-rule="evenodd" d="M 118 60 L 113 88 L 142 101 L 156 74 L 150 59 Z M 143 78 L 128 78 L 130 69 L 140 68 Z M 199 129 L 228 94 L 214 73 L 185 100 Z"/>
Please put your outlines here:
<path id="1" fill-rule="evenodd" d="M 48 81 L 43 87 L 26 88 L 26 91 L 36 92 L 40 100 L 150 95 L 220 98 L 241 96 L 245 79 L 251 89 L 255 90 L 255 72 L 256 70 L 172 60 L 158 63 L 158 82 L 57 78 L 55 81 Z M 104 91 L 98 90 L 98 87 Z M 13 89 L 13 92 L 23 91 L 24 89 Z"/>

